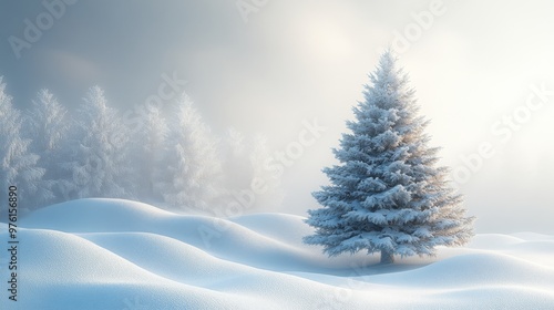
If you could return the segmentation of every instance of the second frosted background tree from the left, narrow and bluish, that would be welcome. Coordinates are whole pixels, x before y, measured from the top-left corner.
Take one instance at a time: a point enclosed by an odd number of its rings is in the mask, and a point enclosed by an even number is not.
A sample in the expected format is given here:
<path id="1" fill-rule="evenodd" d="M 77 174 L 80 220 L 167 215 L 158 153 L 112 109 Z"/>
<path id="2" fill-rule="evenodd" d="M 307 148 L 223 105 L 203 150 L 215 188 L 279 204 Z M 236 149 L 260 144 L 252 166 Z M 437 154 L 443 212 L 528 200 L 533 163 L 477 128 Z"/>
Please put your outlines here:
<path id="1" fill-rule="evenodd" d="M 37 197 L 49 205 L 61 202 L 62 184 L 69 176 L 61 168 L 64 158 L 62 144 L 66 138 L 69 123 L 66 110 L 48 90 L 40 90 L 28 113 L 28 131 L 32 138 L 31 151 L 40 156 L 38 165 L 45 169 L 40 187 L 47 197 Z"/>

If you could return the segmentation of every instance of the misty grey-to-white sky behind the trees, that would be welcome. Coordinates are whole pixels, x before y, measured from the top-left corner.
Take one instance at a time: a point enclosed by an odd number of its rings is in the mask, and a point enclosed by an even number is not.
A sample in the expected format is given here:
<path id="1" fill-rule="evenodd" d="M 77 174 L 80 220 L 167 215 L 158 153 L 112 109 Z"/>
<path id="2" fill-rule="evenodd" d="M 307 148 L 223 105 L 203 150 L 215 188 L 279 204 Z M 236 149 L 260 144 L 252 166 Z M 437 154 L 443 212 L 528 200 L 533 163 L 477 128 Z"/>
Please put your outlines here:
<path id="1" fill-rule="evenodd" d="M 0 1 L 0 75 L 21 108 L 48 87 L 73 110 L 98 84 L 124 112 L 175 75 L 216 134 L 263 133 L 274 152 L 317 118 L 326 131 L 285 168 L 287 197 L 271 209 L 306 215 L 391 45 L 478 232 L 554 232 L 552 1 L 66 2 L 49 25 L 42 1 Z M 14 51 L 25 19 L 47 27 Z"/>

